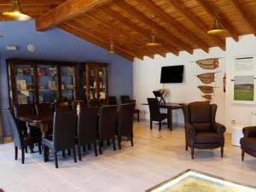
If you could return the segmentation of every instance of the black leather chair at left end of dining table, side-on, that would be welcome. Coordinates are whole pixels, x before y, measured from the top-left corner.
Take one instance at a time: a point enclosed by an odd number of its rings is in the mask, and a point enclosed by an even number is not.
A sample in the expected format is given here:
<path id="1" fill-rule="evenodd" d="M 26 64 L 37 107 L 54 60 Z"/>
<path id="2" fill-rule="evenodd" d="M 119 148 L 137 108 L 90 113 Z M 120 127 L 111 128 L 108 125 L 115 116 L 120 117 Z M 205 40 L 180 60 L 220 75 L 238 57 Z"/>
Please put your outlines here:
<path id="1" fill-rule="evenodd" d="M 20 130 L 15 114 L 11 109 L 3 110 L 5 118 L 8 120 L 9 127 L 12 131 L 12 136 L 15 144 L 15 160 L 18 159 L 18 148 L 21 149 L 21 163 L 24 164 L 25 159 L 25 150 L 28 146 L 38 143 L 39 154 L 42 154 L 41 151 L 41 139 L 42 137 L 29 137 L 24 136 Z"/>

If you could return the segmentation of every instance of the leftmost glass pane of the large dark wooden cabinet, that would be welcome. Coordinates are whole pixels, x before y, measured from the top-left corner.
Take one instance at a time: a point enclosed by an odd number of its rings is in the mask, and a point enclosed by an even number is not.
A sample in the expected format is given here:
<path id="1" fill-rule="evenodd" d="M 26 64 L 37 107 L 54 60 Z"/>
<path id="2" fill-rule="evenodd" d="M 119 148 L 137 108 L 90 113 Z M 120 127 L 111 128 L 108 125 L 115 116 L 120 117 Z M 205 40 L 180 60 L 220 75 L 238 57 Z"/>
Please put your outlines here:
<path id="1" fill-rule="evenodd" d="M 31 65 L 15 65 L 18 104 L 35 103 L 34 72 Z"/>

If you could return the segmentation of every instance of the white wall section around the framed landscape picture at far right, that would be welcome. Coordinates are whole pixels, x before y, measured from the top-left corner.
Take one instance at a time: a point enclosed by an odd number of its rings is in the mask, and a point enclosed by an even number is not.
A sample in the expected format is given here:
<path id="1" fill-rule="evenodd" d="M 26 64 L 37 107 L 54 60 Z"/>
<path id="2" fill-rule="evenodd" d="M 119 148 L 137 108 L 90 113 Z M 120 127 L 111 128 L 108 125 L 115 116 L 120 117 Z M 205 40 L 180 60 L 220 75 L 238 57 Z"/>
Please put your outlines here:
<path id="1" fill-rule="evenodd" d="M 232 103 L 232 65 L 237 56 L 256 55 L 256 38 L 253 35 L 242 36 L 239 42 L 232 38 L 226 39 L 226 73 L 227 73 L 227 93 L 226 93 L 226 111 L 225 125 L 230 128 L 231 121 L 236 120 L 236 124 L 251 124 L 252 112 L 256 111 L 256 105 L 244 105 Z M 256 63 L 254 63 L 255 65 Z"/>

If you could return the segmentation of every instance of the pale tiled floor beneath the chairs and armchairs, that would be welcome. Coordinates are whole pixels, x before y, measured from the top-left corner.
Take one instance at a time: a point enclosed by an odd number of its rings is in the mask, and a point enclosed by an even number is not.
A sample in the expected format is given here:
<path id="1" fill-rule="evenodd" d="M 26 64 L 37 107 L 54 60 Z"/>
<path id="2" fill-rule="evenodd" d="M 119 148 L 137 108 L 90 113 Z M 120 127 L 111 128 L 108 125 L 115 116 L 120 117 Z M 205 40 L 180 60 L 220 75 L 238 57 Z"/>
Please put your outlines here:
<path id="1" fill-rule="evenodd" d="M 13 143 L 0 145 L 0 189 L 4 191 L 61 191 L 61 192 L 142 192 L 192 168 L 241 183 L 256 185 L 256 158 L 246 154 L 241 162 L 241 150 L 232 147 L 230 135 L 226 135 L 224 159 L 219 149 L 195 150 L 195 160 L 184 150 L 183 128 L 168 131 L 149 130 L 148 122 L 135 123 L 135 146 L 124 142 L 121 150 L 106 147 L 103 154 L 93 151 L 73 163 L 73 157 L 62 158 L 55 169 L 51 154 L 44 163 L 43 156 L 26 154 L 25 164 L 14 159 Z M 20 151 L 19 151 L 20 153 Z"/>

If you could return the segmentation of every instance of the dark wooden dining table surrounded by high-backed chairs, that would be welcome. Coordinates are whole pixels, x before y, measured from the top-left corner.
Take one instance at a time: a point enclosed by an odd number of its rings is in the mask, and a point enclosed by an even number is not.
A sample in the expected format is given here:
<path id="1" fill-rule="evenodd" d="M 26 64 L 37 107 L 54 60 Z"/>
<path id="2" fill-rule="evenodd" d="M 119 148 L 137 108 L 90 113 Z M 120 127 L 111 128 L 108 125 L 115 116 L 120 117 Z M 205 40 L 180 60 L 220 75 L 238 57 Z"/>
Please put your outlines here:
<path id="1" fill-rule="evenodd" d="M 54 121 L 53 114 L 49 115 L 22 115 L 19 117 L 20 121 L 26 122 L 26 126 L 29 124 L 39 125 L 40 131 L 42 132 L 42 137 L 47 137 L 47 133 L 49 130 L 49 124 L 52 124 Z M 44 156 L 45 160 L 49 159 L 49 148 L 44 147 Z"/>

